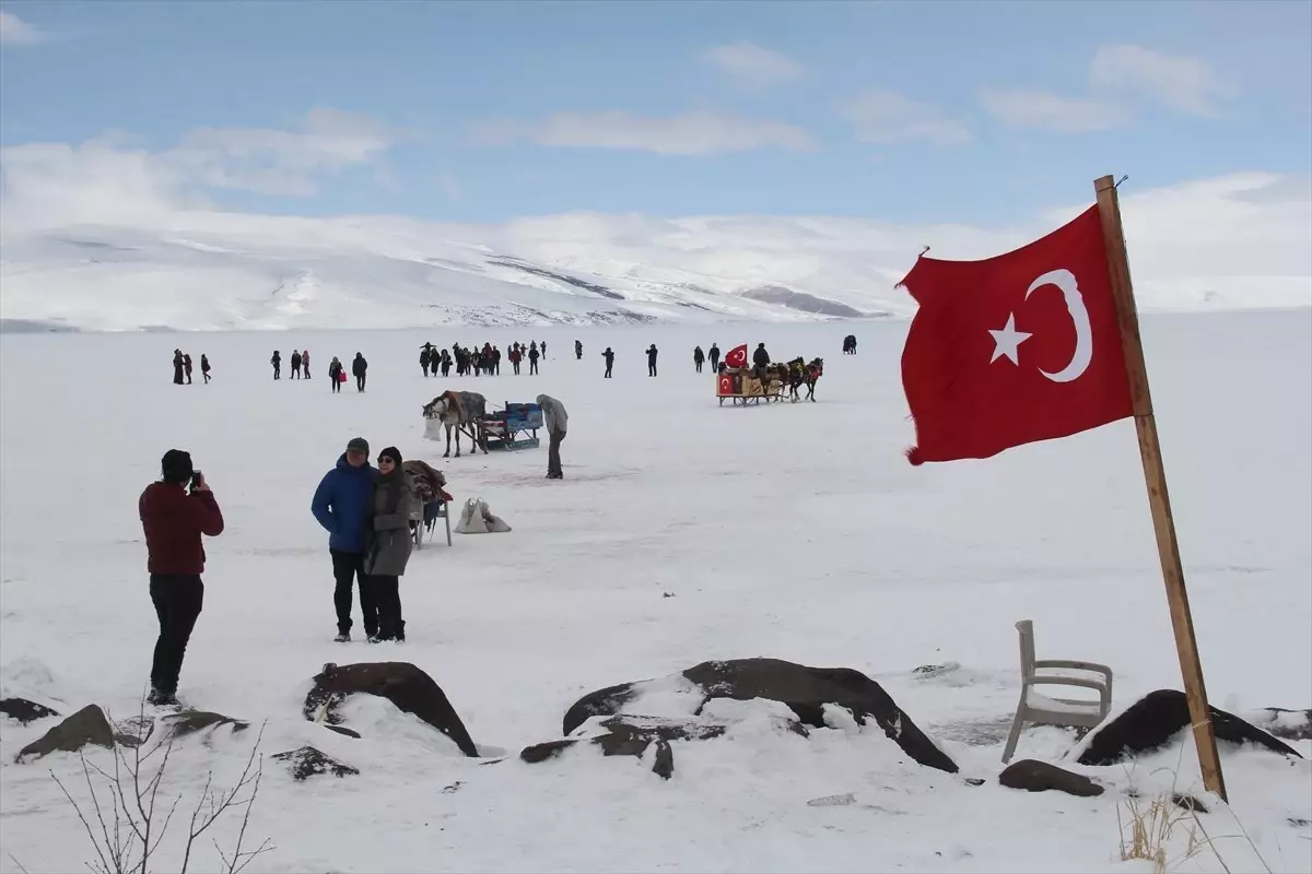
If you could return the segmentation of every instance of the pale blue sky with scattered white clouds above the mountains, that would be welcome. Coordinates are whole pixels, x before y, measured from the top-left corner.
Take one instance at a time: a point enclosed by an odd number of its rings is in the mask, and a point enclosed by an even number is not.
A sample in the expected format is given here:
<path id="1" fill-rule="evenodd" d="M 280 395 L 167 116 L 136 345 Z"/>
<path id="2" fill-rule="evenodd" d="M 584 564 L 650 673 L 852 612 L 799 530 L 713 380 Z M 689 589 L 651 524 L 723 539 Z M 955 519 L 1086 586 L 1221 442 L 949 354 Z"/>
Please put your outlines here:
<path id="1" fill-rule="evenodd" d="M 988 225 L 1089 199 L 1103 173 L 1312 161 L 1302 1 L 0 10 L 7 182 L 31 172 L 12 147 L 117 131 L 165 187 L 241 211 Z"/>

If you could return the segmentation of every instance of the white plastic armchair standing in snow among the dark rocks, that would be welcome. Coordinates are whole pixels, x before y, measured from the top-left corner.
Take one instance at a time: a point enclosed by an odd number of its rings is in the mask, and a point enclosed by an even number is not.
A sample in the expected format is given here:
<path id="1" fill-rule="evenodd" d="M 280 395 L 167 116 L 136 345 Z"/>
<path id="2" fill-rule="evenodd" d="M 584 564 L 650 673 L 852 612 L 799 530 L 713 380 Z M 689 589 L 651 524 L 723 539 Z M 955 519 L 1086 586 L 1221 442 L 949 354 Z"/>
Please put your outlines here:
<path id="1" fill-rule="evenodd" d="M 1036 660 L 1034 622 L 1027 618 L 1021 620 L 1015 624 L 1015 630 L 1021 633 L 1021 702 L 1015 708 L 1012 734 L 1008 735 L 1006 748 L 1002 751 L 1004 764 L 1015 753 L 1015 744 L 1026 722 L 1092 729 L 1106 719 L 1107 712 L 1111 710 L 1111 668 L 1093 662 Z M 1098 700 L 1052 698 L 1035 689 L 1044 685 L 1094 689 Z"/>

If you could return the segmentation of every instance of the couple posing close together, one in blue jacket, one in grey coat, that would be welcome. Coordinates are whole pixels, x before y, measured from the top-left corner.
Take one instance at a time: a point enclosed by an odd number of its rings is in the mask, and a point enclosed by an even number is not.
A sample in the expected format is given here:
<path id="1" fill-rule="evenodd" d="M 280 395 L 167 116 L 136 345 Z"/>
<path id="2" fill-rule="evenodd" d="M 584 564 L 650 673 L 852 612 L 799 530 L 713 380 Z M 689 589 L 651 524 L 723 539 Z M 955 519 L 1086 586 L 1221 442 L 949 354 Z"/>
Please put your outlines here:
<path id="1" fill-rule="evenodd" d="M 359 612 L 370 643 L 405 639 L 401 618 L 400 577 L 411 548 L 411 511 L 415 510 L 401 453 L 387 447 L 378 468 L 369 464 L 369 442 L 354 438 L 324 474 L 310 510 L 328 532 L 332 573 L 337 580 L 338 643 L 350 639 L 352 580 L 359 584 Z"/>

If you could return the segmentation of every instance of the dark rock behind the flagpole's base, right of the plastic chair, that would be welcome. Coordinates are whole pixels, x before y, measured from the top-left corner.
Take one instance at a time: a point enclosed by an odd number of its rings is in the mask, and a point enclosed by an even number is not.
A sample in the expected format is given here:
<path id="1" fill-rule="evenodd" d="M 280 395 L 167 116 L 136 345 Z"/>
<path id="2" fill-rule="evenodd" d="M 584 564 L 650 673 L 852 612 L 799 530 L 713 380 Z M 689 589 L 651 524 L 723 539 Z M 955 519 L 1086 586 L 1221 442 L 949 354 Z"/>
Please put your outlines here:
<path id="1" fill-rule="evenodd" d="M 1271 752 L 1298 756 L 1292 747 L 1232 713 L 1211 708 L 1212 731 L 1218 740 L 1250 743 Z M 1157 689 L 1136 701 L 1124 713 L 1090 732 L 1092 739 L 1077 760 L 1081 765 L 1114 765 L 1127 757 L 1152 752 L 1169 744 L 1191 725 L 1189 700 L 1178 689 Z"/>

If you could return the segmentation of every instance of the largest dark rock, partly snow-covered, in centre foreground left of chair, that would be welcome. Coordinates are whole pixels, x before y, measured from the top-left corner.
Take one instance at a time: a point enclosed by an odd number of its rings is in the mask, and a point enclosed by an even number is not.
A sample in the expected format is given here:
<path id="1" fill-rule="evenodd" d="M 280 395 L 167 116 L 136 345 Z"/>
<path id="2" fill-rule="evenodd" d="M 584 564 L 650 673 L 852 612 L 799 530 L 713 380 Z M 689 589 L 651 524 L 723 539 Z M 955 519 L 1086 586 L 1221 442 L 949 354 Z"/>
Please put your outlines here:
<path id="1" fill-rule="evenodd" d="M 684 671 L 684 677 L 701 688 L 698 713 L 712 698 L 769 698 L 786 704 L 802 723 L 823 729 L 825 705 L 834 705 L 850 710 L 858 725 L 872 718 L 914 761 L 947 773 L 958 770 L 956 763 L 934 746 L 888 693 L 859 671 L 757 658 L 703 662 Z M 651 683 L 626 683 L 584 696 L 565 713 L 564 734 L 572 734 L 590 717 L 619 713 Z"/>

